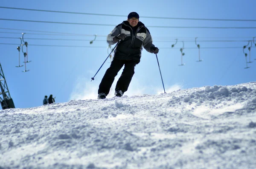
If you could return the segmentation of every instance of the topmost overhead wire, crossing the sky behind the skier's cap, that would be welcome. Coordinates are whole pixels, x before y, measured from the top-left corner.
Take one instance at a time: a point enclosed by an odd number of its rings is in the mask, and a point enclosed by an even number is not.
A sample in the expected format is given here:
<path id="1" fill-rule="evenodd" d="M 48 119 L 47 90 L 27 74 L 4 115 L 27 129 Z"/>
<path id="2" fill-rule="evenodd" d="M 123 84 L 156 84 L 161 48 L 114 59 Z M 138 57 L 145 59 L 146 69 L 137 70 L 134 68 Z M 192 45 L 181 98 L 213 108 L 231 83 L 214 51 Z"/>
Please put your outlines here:
<path id="1" fill-rule="evenodd" d="M 84 15 L 98 15 L 98 16 L 110 16 L 110 17 L 127 17 L 127 15 L 116 15 L 116 14 L 95 14 L 95 13 L 83 13 L 83 12 L 69 12 L 69 11 L 52 11 L 52 10 L 41 10 L 41 9 L 29 9 L 29 8 L 13 8 L 0 6 L 0 8 L 26 10 L 26 11 L 42 11 L 42 12 L 55 12 L 65 14 L 84 14 Z M 212 20 L 212 21 L 246 21 L 255 22 L 256 20 L 241 20 L 241 19 L 209 19 L 209 18 L 181 18 L 181 17 L 148 17 L 140 16 L 141 18 L 152 18 L 152 19 L 171 19 L 171 20 Z"/>

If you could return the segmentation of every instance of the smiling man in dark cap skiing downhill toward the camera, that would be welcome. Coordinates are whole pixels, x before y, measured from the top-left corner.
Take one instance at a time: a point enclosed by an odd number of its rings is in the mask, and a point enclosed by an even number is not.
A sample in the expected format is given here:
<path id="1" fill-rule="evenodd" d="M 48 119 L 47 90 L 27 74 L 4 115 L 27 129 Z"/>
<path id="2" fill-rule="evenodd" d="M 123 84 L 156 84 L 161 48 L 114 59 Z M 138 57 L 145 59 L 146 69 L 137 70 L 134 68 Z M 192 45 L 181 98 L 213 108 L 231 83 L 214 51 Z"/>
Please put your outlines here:
<path id="1" fill-rule="evenodd" d="M 115 49 L 113 61 L 106 70 L 99 85 L 98 99 L 106 98 L 115 76 L 123 65 L 125 65 L 115 88 L 115 96 L 123 96 L 123 93 L 128 90 L 132 76 L 134 75 L 134 67 L 140 62 L 142 47 L 150 53 L 158 53 L 159 49 L 152 44 L 152 38 L 148 28 L 139 21 L 139 18 L 139 14 L 131 12 L 128 14 L 127 21 L 123 21 L 117 25 L 108 34 L 107 42 L 109 45 L 113 45 L 116 42 L 119 44 Z"/>

